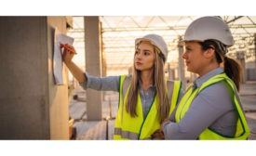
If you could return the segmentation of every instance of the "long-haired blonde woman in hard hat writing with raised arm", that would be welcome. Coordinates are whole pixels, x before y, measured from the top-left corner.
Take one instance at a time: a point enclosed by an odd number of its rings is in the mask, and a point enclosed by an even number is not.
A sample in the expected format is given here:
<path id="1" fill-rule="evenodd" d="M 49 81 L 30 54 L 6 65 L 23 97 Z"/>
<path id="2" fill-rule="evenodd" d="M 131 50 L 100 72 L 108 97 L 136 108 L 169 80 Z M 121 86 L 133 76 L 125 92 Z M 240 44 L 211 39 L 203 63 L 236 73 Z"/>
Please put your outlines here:
<path id="1" fill-rule="evenodd" d="M 74 52 L 73 46 L 64 47 L 63 60 L 85 89 L 119 92 L 114 139 L 150 139 L 179 101 L 182 84 L 166 80 L 168 47 L 157 34 L 136 39 L 131 75 L 90 76 L 74 64 Z"/>

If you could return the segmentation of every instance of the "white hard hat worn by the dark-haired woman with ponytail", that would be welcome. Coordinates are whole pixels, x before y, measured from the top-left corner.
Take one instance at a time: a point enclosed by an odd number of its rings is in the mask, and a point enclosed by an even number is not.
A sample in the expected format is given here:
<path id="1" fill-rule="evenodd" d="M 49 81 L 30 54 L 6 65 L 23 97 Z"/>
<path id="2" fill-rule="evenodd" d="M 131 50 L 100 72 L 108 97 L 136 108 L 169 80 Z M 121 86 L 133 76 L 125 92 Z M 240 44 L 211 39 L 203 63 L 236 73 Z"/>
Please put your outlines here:
<path id="1" fill-rule="evenodd" d="M 220 17 L 203 17 L 194 20 L 187 28 L 184 41 L 218 40 L 223 45 L 234 45 L 228 25 Z"/>

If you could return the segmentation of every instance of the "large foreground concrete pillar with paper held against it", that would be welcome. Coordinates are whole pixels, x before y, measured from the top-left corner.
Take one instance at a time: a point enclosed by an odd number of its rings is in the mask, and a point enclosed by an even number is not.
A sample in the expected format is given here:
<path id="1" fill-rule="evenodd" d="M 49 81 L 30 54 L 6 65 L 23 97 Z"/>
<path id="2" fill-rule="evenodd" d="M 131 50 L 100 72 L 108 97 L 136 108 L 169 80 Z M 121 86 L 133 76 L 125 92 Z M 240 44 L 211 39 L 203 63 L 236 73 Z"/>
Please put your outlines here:
<path id="1" fill-rule="evenodd" d="M 66 18 L 0 18 L 0 139 L 68 139 L 67 83 L 52 74 L 55 26 L 66 32 Z"/>

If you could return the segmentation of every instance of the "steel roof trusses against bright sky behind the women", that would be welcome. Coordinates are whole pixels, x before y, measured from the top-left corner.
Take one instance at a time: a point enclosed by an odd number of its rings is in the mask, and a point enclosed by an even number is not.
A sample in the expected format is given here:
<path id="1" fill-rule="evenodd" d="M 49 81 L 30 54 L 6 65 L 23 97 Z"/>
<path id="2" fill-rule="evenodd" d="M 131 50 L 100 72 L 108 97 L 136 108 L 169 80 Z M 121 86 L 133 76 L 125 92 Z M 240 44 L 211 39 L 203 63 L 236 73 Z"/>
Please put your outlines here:
<path id="1" fill-rule="evenodd" d="M 107 75 L 115 72 L 127 73 L 133 61 L 134 40 L 148 33 L 163 36 L 168 44 L 168 63 L 177 67 L 179 37 L 183 37 L 187 26 L 197 18 L 199 17 L 101 16 L 102 52 L 106 59 Z M 243 52 L 247 60 L 255 59 L 256 17 L 222 16 L 222 19 L 228 23 L 235 38 L 235 45 L 229 49 L 229 55 L 236 58 L 236 52 Z M 69 33 L 74 36 L 78 48 L 84 46 L 83 32 L 83 17 L 74 17 L 74 29 Z"/>

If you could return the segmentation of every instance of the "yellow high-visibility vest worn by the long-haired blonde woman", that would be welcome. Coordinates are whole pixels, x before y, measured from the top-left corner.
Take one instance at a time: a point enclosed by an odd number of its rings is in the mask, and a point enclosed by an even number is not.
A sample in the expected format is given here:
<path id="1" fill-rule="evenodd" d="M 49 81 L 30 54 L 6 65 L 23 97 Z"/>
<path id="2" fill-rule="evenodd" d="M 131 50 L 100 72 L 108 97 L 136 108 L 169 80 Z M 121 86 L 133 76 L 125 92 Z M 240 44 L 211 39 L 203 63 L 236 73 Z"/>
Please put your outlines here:
<path id="1" fill-rule="evenodd" d="M 145 119 L 143 118 L 141 96 L 138 93 L 138 101 L 136 105 L 137 117 L 131 117 L 126 110 L 128 99 L 128 89 L 131 77 L 120 76 L 119 85 L 119 104 L 115 117 L 115 133 L 114 139 L 150 139 L 155 130 L 160 128 L 157 113 L 157 98 L 155 96 Z M 180 95 L 182 82 L 168 81 L 168 102 L 170 103 L 169 114 L 174 110 Z"/>

